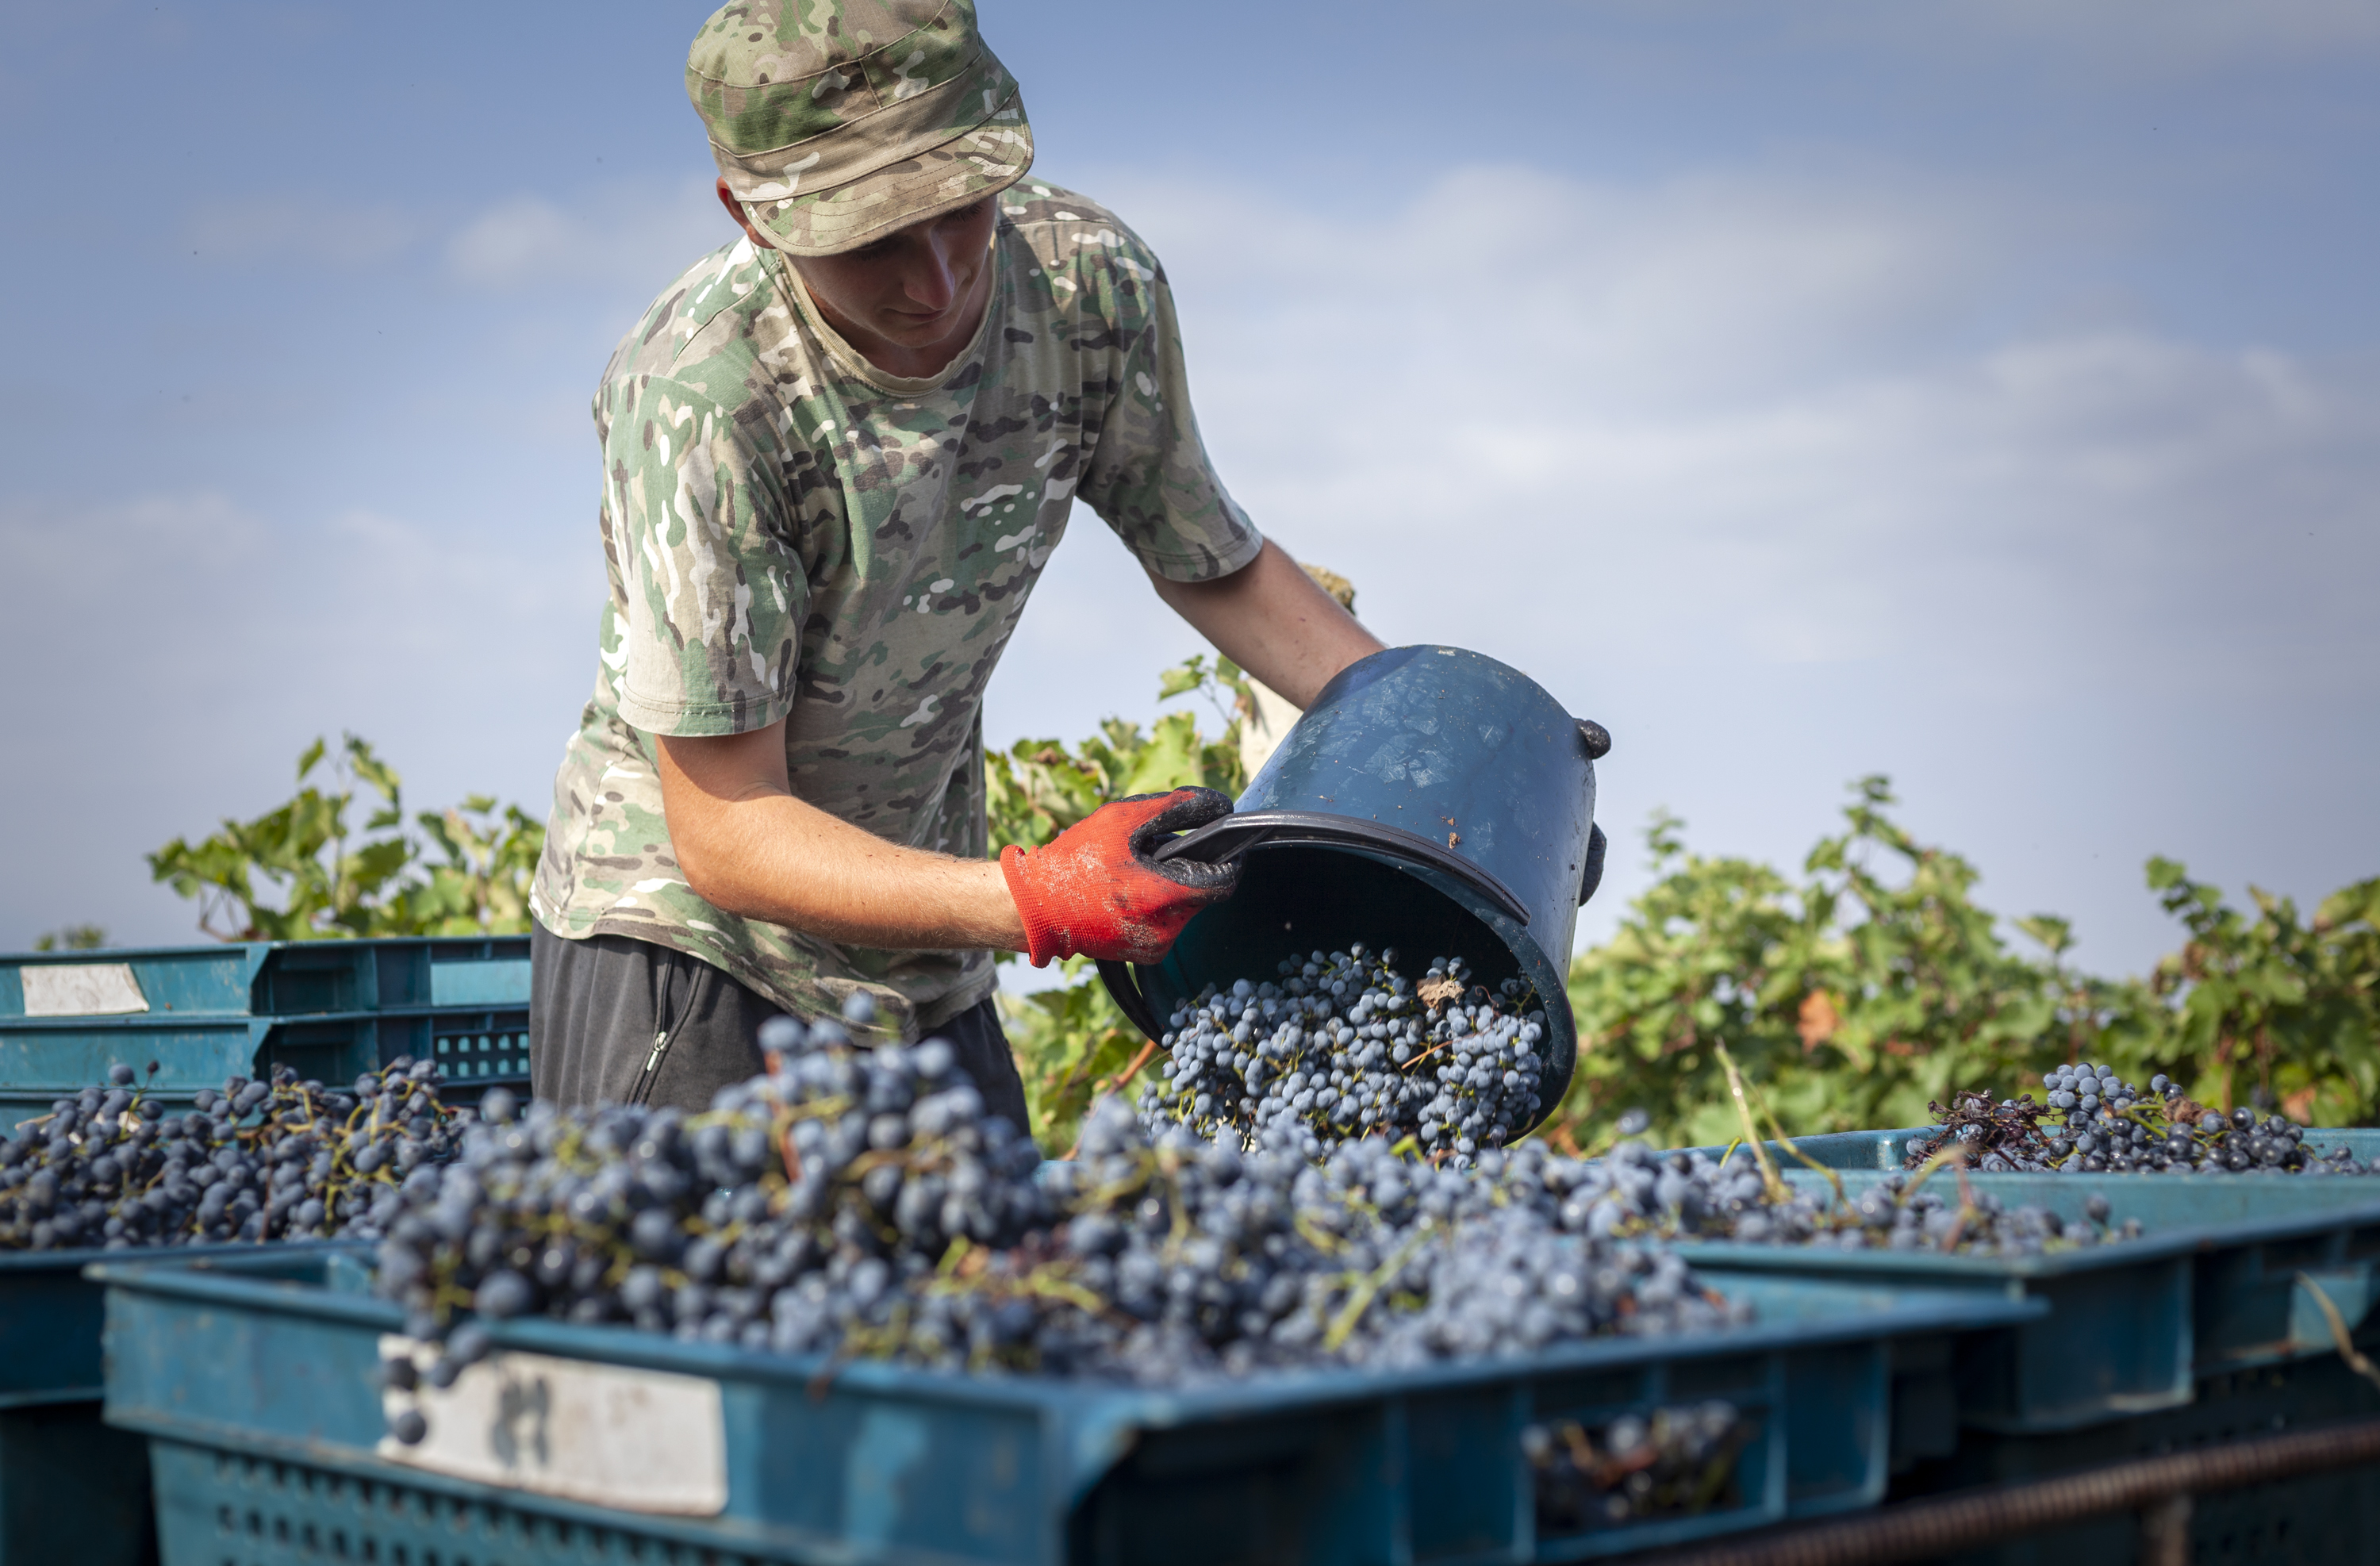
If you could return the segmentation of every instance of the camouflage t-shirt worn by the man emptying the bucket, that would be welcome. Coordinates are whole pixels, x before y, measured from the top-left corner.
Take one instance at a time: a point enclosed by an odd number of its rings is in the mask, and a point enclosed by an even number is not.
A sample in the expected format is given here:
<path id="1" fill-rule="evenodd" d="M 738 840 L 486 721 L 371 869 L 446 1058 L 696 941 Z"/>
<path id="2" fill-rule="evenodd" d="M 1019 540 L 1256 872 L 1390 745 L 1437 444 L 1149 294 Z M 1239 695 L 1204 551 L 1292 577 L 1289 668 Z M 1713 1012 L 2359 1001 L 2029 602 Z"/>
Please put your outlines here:
<path id="1" fill-rule="evenodd" d="M 909 1038 L 957 1016 L 992 992 L 988 952 L 847 947 L 697 897 L 652 735 L 785 719 L 797 797 L 983 857 L 983 688 L 1073 497 L 1173 581 L 1257 557 L 1200 445 L 1157 257 L 1081 195 L 1026 181 L 997 200 L 983 328 L 940 376 L 871 367 L 743 238 L 612 355 L 612 595 L 531 895 L 555 935 L 676 947 L 802 1014 L 864 985 Z"/>

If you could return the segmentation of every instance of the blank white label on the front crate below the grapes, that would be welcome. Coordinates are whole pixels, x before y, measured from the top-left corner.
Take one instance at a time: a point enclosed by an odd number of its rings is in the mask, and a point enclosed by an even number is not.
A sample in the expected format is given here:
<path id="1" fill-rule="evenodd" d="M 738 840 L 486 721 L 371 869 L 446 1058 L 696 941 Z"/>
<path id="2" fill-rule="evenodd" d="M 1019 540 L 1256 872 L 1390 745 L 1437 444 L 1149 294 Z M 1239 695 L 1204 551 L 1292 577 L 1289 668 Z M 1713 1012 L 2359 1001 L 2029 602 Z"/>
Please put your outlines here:
<path id="1" fill-rule="evenodd" d="M 438 1347 L 381 1338 L 381 1357 L 421 1371 Z M 716 1516 L 728 1504 L 728 1442 L 719 1383 L 669 1371 L 497 1352 L 452 1388 L 383 1392 L 388 1416 L 421 1409 L 428 1435 L 381 1457 L 481 1485 L 519 1485 L 621 1511 Z"/>

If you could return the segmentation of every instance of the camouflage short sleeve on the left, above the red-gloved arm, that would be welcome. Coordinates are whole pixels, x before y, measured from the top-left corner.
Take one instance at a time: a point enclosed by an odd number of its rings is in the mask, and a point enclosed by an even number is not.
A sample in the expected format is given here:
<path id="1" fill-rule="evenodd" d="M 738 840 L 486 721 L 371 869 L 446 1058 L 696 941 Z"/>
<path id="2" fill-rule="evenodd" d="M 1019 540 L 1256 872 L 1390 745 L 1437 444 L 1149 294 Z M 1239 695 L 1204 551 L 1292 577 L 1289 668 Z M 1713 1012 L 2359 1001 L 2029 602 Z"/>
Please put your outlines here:
<path id="1" fill-rule="evenodd" d="M 793 704 L 809 609 L 771 426 L 662 376 L 621 393 L 605 421 L 619 716 L 657 735 L 766 728 Z"/>

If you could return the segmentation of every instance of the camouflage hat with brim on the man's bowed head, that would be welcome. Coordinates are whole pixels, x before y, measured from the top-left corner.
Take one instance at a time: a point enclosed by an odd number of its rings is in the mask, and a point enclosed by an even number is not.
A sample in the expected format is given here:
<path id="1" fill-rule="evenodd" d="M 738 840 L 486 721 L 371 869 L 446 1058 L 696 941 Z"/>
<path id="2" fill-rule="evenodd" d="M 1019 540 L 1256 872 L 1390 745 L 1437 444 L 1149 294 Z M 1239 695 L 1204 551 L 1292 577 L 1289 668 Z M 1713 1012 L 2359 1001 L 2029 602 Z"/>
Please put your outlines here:
<path id="1" fill-rule="evenodd" d="M 857 250 L 1033 164 L 971 0 L 740 0 L 695 33 L 685 95 L 728 193 L 790 255 Z"/>

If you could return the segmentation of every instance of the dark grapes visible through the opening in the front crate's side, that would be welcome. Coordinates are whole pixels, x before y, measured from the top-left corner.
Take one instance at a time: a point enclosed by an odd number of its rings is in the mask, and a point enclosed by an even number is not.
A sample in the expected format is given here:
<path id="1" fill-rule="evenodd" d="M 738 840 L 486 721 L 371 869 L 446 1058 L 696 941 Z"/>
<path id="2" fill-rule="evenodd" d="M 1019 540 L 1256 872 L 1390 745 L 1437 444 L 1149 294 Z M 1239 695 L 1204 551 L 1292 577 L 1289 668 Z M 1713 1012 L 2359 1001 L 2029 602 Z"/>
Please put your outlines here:
<path id="1" fill-rule="evenodd" d="M 1737 1507 L 1735 1459 L 1752 1433 L 1754 1423 L 1721 1399 L 1621 1414 L 1599 1430 L 1576 1418 L 1526 1426 L 1521 1457 L 1533 1468 L 1537 1535 Z"/>

